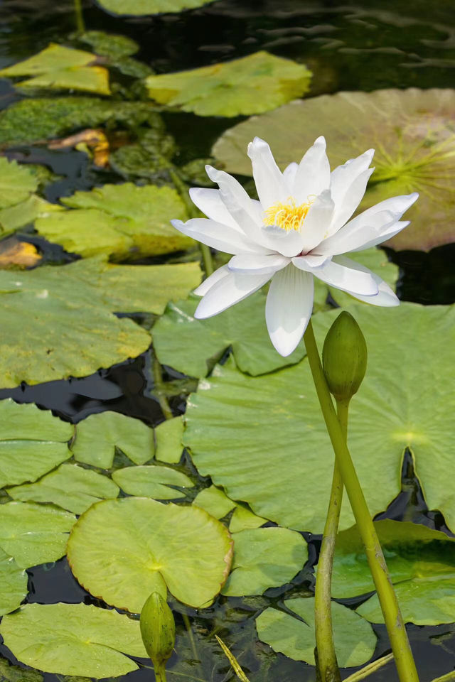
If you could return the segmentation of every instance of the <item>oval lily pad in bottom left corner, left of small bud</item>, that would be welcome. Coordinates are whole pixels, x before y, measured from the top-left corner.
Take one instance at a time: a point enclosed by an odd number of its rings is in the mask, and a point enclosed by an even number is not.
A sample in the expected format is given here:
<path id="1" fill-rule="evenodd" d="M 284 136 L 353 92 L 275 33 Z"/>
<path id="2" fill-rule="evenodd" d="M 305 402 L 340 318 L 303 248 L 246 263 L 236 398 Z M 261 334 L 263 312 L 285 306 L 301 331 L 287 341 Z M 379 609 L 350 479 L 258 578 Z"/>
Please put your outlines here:
<path id="1" fill-rule="evenodd" d="M 146 658 L 138 620 L 85 604 L 26 604 L 4 617 L 1 635 L 21 663 L 46 673 L 118 677 L 139 667 L 128 656 Z"/>

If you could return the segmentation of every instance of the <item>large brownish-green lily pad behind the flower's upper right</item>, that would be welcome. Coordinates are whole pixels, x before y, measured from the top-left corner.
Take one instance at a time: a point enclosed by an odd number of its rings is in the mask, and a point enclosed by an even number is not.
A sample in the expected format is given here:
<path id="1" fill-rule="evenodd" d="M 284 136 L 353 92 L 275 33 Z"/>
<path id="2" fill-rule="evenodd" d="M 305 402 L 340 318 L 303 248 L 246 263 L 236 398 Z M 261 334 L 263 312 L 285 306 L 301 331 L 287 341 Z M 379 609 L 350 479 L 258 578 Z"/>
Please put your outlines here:
<path id="1" fill-rule="evenodd" d="M 406 213 L 410 227 L 387 246 L 429 251 L 455 239 L 454 112 L 455 90 L 324 94 L 240 123 L 221 136 L 213 155 L 226 171 L 252 175 L 246 149 L 254 136 L 269 142 L 280 168 L 300 161 L 321 134 L 333 168 L 374 147 L 376 171 L 360 210 L 419 192 Z"/>

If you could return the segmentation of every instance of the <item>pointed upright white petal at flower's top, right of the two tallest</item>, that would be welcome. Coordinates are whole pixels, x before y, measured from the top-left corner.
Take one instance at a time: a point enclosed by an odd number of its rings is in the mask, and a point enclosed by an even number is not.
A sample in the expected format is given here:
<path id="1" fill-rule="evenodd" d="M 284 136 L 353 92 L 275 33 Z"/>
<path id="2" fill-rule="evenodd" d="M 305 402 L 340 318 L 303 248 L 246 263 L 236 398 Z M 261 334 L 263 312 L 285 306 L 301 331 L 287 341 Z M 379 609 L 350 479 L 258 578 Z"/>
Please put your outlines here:
<path id="1" fill-rule="evenodd" d="M 296 204 L 318 196 L 330 187 L 330 165 L 326 154 L 326 140 L 319 137 L 299 163 L 294 180 Z"/>

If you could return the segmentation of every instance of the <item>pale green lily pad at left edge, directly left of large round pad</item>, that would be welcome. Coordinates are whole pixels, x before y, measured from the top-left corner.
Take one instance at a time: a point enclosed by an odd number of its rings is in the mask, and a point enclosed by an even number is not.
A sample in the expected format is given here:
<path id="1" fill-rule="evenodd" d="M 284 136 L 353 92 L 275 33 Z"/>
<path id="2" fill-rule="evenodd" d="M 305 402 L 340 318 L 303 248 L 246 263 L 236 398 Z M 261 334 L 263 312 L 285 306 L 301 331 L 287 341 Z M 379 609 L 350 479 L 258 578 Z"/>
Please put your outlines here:
<path id="1" fill-rule="evenodd" d="M 0 548 L 20 568 L 60 559 L 76 517 L 68 511 L 31 502 L 0 505 Z"/>

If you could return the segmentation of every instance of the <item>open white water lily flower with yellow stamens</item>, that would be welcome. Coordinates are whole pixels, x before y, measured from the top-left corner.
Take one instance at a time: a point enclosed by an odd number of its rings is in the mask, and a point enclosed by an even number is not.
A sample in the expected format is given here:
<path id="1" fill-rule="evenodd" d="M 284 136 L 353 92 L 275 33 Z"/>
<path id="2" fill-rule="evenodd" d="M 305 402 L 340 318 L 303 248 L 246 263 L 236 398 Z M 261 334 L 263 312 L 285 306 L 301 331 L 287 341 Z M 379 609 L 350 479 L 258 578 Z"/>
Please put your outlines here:
<path id="1" fill-rule="evenodd" d="M 176 229 L 209 247 L 233 254 L 229 263 L 195 291 L 203 296 L 196 318 L 210 318 L 242 301 L 270 279 L 265 317 L 277 351 L 289 355 L 301 340 L 313 309 L 314 277 L 373 305 L 398 305 L 378 275 L 342 254 L 394 237 L 418 194 L 392 197 L 351 216 L 374 168 L 374 149 L 330 171 L 326 141 L 319 137 L 301 162 L 282 173 L 269 145 L 248 145 L 259 201 L 228 173 L 206 166 L 219 189 L 193 188 L 191 199 L 208 218 Z"/>

